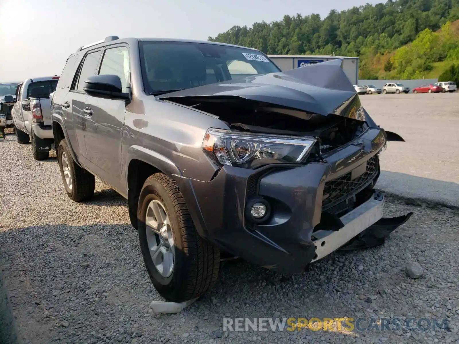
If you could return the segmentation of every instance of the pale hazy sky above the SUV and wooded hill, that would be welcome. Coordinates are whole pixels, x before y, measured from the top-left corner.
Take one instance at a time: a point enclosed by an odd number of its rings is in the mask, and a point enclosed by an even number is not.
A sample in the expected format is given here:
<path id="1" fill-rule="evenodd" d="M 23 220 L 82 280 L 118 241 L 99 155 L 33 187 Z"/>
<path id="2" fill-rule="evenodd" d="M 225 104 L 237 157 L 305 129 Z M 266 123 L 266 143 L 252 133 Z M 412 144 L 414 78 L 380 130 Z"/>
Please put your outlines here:
<path id="1" fill-rule="evenodd" d="M 234 25 L 383 0 L 0 0 L 0 82 L 60 75 L 78 47 L 106 36 L 207 40 Z"/>

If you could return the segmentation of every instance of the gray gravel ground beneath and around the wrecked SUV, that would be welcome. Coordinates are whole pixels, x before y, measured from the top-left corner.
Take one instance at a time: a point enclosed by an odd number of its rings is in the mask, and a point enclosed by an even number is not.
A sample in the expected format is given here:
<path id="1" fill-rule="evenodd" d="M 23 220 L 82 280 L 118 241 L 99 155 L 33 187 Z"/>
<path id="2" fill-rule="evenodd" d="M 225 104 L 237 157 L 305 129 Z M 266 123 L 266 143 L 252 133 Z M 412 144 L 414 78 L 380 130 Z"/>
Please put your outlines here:
<path id="1" fill-rule="evenodd" d="M 0 268 L 24 343 L 459 341 L 458 210 L 387 199 L 386 216 L 414 215 L 384 246 L 337 253 L 294 276 L 226 262 L 215 289 L 180 314 L 158 316 L 149 304 L 161 298 L 146 274 L 127 202 L 100 181 L 94 200 L 72 202 L 55 157 L 35 161 L 30 144 L 17 144 L 12 134 L 0 152 Z M 405 274 L 414 261 L 424 269 L 418 279 Z M 449 329 L 223 332 L 225 316 L 446 317 Z"/>

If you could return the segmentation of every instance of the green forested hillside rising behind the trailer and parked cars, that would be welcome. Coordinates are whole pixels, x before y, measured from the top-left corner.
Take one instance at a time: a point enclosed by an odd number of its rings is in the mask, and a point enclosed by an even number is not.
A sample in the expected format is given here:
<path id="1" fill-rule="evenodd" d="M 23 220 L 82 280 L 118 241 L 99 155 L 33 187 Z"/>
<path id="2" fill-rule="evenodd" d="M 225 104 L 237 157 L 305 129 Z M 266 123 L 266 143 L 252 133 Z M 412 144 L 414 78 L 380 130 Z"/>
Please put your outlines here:
<path id="1" fill-rule="evenodd" d="M 459 0 L 388 0 L 324 19 L 297 14 L 234 26 L 208 40 L 273 55 L 359 56 L 361 79 L 437 78 L 459 62 L 458 19 Z"/>

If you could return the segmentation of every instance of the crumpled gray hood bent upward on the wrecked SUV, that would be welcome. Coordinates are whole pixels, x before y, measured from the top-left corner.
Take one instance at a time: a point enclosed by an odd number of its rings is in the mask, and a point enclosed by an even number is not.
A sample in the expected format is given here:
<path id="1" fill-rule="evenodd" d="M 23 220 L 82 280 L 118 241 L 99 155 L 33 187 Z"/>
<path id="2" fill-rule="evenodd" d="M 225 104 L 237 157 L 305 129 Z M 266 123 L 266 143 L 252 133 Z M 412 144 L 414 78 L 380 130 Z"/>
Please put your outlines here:
<path id="1" fill-rule="evenodd" d="M 341 63 L 342 59 L 336 59 L 285 72 L 228 80 L 162 94 L 157 99 L 240 97 L 323 116 L 336 114 L 364 121 L 358 94 L 341 69 Z"/>

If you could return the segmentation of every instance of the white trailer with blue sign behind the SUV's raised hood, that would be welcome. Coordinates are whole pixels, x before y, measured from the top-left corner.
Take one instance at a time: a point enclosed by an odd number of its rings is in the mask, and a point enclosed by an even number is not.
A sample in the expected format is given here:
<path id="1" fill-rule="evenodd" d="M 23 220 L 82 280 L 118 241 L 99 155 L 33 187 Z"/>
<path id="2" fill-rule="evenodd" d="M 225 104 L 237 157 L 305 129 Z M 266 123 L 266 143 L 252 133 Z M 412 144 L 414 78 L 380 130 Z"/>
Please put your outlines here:
<path id="1" fill-rule="evenodd" d="M 282 71 L 300 68 L 314 63 L 343 59 L 341 68 L 353 85 L 358 83 L 358 57 L 321 55 L 268 55 Z"/>

